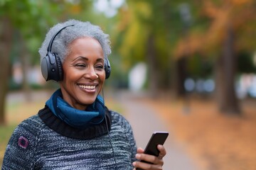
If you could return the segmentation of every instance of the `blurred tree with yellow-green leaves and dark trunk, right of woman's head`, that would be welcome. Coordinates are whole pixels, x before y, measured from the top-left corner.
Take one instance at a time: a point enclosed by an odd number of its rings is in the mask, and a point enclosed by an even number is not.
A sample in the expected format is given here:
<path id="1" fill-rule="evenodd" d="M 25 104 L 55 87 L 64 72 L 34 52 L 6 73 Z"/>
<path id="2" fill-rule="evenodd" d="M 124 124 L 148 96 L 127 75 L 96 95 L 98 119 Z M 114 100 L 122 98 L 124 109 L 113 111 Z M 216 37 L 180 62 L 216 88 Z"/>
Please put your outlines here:
<path id="1" fill-rule="evenodd" d="M 136 62 L 146 62 L 149 74 L 149 91 L 152 96 L 159 89 L 169 88 L 171 52 L 176 39 L 171 23 L 177 21 L 172 6 L 178 1 L 127 1 L 119 13 L 119 53 L 124 57 L 124 68 Z M 174 20 L 172 20 L 172 18 Z M 178 26 L 177 28 L 178 29 Z"/>

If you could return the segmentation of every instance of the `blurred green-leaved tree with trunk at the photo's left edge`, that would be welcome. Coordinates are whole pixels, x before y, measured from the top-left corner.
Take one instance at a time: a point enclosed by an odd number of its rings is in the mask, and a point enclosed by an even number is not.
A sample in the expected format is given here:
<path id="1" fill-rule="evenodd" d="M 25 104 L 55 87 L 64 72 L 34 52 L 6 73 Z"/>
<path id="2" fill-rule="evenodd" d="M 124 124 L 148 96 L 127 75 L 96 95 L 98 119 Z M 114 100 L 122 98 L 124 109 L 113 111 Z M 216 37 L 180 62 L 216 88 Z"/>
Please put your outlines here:
<path id="1" fill-rule="evenodd" d="M 4 124 L 5 99 L 11 75 L 10 52 L 13 40 L 20 44 L 18 60 L 23 64 L 23 78 L 27 77 L 28 66 L 38 63 L 38 48 L 43 41 L 47 28 L 67 18 L 85 18 L 92 1 L 15 1 L 0 0 L 0 124 Z M 85 10 L 85 12 L 83 12 Z M 75 17 L 76 16 L 76 17 Z M 87 15 L 90 16 L 90 15 Z M 18 32 L 18 38 L 12 38 Z M 34 57 L 31 57 L 34 56 Z M 23 81 L 23 89 L 28 91 L 28 82 Z"/>

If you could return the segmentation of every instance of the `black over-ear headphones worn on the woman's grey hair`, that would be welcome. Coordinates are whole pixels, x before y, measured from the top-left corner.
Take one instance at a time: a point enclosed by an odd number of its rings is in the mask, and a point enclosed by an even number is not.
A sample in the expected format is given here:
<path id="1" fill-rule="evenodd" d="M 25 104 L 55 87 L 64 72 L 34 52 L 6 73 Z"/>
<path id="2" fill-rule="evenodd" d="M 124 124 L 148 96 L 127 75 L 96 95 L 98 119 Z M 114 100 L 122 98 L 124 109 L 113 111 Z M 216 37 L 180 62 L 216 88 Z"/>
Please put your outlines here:
<path id="1" fill-rule="evenodd" d="M 75 26 L 75 25 L 70 25 Z M 60 57 L 58 57 L 57 53 L 51 52 L 51 48 L 53 46 L 53 40 L 54 38 L 61 32 L 61 30 L 67 28 L 69 26 L 65 26 L 61 28 L 55 35 L 53 35 L 53 38 L 50 40 L 49 45 L 47 47 L 47 53 L 46 57 L 43 57 L 41 60 L 41 72 L 43 74 L 43 78 L 48 80 L 55 80 L 55 81 L 61 81 L 63 79 L 63 68 L 60 61 Z M 108 79 L 110 77 L 111 67 L 110 67 L 110 61 L 105 59 L 104 62 L 105 67 L 105 74 L 106 78 Z"/>

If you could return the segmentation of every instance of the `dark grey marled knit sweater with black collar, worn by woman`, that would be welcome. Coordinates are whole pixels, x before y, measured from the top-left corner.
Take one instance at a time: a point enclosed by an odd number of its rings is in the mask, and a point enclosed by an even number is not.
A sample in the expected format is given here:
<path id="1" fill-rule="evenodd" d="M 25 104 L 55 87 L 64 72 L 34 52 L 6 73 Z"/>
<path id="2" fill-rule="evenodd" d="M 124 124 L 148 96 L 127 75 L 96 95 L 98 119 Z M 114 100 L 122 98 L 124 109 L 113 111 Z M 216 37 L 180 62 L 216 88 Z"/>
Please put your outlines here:
<path id="1" fill-rule="evenodd" d="M 107 132 L 107 121 L 96 131 L 78 132 L 52 118 L 48 108 L 42 110 L 43 115 L 33 115 L 14 130 L 2 169 L 133 168 L 137 147 L 131 126 L 119 113 L 109 111 Z"/>

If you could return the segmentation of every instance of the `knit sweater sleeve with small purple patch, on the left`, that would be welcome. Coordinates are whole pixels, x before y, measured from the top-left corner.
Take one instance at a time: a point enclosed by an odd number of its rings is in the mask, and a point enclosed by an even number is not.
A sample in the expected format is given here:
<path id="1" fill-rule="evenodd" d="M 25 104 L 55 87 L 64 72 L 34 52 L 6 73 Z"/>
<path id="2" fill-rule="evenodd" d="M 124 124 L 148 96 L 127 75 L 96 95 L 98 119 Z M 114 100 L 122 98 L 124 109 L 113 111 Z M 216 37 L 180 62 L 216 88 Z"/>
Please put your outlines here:
<path id="1" fill-rule="evenodd" d="M 14 130 L 4 154 L 2 169 L 33 169 L 36 128 L 33 120 L 24 120 Z"/>

